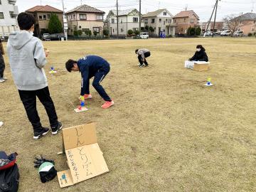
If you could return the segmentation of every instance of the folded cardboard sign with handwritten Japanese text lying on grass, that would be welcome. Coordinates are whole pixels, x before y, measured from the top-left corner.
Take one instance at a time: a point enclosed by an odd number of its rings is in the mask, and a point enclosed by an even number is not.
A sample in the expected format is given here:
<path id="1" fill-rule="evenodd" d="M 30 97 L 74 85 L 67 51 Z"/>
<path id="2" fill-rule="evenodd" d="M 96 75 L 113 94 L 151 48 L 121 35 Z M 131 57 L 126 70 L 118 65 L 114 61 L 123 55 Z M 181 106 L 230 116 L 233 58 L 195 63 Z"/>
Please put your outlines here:
<path id="1" fill-rule="evenodd" d="M 63 129 L 63 142 L 70 169 L 58 172 L 61 188 L 109 171 L 97 144 L 95 123 Z"/>

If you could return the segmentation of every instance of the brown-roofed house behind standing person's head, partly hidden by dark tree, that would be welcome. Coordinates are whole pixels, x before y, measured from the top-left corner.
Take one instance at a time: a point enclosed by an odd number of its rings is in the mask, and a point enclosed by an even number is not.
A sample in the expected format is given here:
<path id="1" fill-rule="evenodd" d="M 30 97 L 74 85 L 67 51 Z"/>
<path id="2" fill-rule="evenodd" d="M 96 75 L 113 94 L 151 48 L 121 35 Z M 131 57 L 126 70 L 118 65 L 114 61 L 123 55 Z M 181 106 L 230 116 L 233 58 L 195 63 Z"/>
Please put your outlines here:
<path id="1" fill-rule="evenodd" d="M 41 36 L 48 29 L 50 15 L 56 14 L 60 23 L 63 25 L 63 11 L 54 8 L 53 6 L 34 6 L 26 10 L 27 13 L 33 14 L 36 18 L 34 36 Z"/>

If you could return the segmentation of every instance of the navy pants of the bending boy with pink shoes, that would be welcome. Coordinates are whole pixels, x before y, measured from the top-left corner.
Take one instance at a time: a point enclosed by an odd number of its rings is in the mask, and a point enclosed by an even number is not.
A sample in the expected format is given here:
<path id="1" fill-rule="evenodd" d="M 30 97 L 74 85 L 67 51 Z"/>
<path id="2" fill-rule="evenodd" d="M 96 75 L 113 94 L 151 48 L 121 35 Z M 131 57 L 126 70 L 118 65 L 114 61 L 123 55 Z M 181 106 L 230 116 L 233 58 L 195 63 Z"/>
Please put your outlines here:
<path id="1" fill-rule="evenodd" d="M 102 85 L 100 85 L 100 82 L 102 82 L 102 80 L 104 80 L 104 78 L 106 77 L 107 73 L 110 72 L 110 65 L 105 66 L 105 68 L 102 68 L 100 70 L 97 71 L 97 73 L 95 73 L 95 78 L 92 82 L 92 86 L 95 87 L 95 90 L 97 90 L 97 92 L 99 93 L 100 97 L 102 97 L 103 100 L 105 101 L 111 101 L 110 97 L 107 95 L 107 92 L 105 92 L 104 88 L 102 87 Z M 89 90 L 89 80 L 87 85 L 84 85 L 86 87 L 85 93 L 89 94 L 90 90 Z"/>

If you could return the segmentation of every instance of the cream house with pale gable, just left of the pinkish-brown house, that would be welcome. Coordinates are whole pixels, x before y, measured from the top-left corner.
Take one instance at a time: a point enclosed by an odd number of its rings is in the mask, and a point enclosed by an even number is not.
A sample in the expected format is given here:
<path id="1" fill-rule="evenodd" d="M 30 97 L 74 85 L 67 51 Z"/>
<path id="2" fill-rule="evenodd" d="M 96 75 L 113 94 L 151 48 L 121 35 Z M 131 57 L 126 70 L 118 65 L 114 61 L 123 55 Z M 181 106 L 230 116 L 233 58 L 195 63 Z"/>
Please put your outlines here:
<path id="1" fill-rule="evenodd" d="M 144 14 L 145 27 L 154 28 L 154 35 L 159 36 L 161 32 L 164 32 L 166 36 L 174 36 L 176 24 L 173 20 L 173 15 L 167 9 L 159 9 L 153 12 Z"/>

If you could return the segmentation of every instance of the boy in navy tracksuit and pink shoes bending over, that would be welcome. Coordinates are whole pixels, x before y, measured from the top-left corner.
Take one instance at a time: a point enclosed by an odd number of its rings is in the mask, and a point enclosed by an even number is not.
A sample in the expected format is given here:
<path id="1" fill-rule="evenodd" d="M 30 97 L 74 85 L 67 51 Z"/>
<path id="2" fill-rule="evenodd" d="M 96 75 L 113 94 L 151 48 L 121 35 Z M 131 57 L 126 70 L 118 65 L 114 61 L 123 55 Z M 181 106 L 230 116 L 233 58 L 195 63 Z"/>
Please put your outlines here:
<path id="1" fill-rule="evenodd" d="M 114 101 L 110 99 L 105 92 L 100 82 L 106 77 L 107 73 L 110 72 L 110 63 L 107 62 L 104 58 L 101 58 L 97 55 L 87 55 L 80 60 L 68 60 L 65 63 L 66 69 L 68 72 L 71 71 L 80 71 L 82 75 L 82 86 L 80 92 L 80 98 L 82 100 L 91 99 L 89 85 L 90 78 L 94 77 L 92 86 L 95 87 L 95 90 L 100 94 L 105 103 L 102 105 L 103 109 L 107 109 L 114 105 Z"/>

